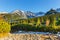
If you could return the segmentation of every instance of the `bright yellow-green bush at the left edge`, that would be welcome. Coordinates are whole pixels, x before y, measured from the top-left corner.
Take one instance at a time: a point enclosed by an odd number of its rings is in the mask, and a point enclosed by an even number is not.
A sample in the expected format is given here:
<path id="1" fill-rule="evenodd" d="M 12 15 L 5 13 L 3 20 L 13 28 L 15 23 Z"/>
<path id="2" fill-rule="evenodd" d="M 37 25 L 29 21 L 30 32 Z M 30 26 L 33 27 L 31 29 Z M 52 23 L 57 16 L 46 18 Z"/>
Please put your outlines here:
<path id="1" fill-rule="evenodd" d="M 10 32 L 10 29 L 10 24 L 8 24 L 8 22 L 0 20 L 0 33 L 8 33 Z"/>

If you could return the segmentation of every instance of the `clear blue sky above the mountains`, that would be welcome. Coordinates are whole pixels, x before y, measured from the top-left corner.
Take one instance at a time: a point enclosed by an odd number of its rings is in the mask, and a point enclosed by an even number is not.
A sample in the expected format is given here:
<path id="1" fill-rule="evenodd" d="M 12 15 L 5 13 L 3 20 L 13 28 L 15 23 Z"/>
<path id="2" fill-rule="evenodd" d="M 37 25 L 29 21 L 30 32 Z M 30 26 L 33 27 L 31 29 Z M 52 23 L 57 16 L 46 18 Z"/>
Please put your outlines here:
<path id="1" fill-rule="evenodd" d="M 51 8 L 60 8 L 60 0 L 0 0 L 0 12 L 24 10 L 46 12 Z"/>

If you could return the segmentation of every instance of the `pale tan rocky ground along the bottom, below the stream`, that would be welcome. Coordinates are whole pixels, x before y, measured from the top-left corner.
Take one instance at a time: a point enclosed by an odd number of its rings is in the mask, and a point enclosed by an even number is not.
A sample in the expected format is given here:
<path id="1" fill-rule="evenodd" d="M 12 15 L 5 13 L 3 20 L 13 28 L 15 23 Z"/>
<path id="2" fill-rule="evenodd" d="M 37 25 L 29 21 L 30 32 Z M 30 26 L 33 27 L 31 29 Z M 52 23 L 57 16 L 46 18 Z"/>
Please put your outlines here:
<path id="1" fill-rule="evenodd" d="M 55 35 L 42 34 L 10 34 L 8 37 L 0 40 L 59 40 Z"/>

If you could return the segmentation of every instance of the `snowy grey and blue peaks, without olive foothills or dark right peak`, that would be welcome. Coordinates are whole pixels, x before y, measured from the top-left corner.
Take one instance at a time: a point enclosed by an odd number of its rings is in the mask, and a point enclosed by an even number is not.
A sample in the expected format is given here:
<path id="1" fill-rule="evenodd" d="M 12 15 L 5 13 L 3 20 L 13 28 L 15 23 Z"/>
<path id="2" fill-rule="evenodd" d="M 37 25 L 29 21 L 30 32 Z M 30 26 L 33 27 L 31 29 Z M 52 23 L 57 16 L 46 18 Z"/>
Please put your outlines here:
<path id="1" fill-rule="evenodd" d="M 21 18 L 33 18 L 33 17 L 39 17 L 39 16 L 44 16 L 45 13 L 44 12 L 38 12 L 38 13 L 33 13 L 31 11 L 21 11 L 21 10 L 15 10 L 12 12 L 12 14 L 14 15 L 18 15 Z"/>

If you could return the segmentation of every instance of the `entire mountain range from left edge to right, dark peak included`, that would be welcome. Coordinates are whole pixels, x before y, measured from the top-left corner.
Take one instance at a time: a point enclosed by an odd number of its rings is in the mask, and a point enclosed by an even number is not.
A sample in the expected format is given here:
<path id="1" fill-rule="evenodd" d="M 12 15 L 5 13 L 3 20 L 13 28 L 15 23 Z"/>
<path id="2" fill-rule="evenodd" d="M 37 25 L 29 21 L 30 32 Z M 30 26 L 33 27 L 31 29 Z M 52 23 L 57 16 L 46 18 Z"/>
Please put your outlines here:
<path id="1" fill-rule="evenodd" d="M 31 12 L 31 11 L 22 11 L 22 10 L 15 10 L 10 13 L 8 12 L 0 12 L 0 16 L 3 17 L 6 21 L 12 22 L 15 20 L 19 19 L 28 19 L 28 18 L 33 18 L 33 17 L 40 17 L 40 16 L 45 16 L 45 15 L 50 15 L 50 14 L 57 14 L 59 13 L 60 9 L 50 9 L 48 12 Z M 1 18 L 0 17 L 0 18 Z"/>

